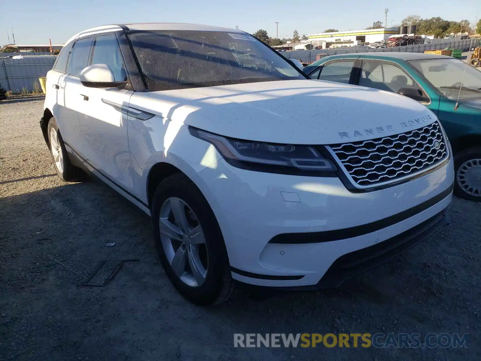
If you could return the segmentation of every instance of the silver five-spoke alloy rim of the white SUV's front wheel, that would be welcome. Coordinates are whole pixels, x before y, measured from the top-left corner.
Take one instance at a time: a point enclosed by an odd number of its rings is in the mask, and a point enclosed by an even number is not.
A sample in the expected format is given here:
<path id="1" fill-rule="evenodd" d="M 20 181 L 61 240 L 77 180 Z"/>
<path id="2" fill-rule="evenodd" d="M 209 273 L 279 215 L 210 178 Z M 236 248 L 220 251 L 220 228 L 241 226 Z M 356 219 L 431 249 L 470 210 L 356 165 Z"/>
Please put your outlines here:
<path id="1" fill-rule="evenodd" d="M 160 238 L 167 261 L 177 277 L 191 287 L 205 282 L 209 259 L 202 227 L 190 206 L 167 198 L 160 209 Z"/>

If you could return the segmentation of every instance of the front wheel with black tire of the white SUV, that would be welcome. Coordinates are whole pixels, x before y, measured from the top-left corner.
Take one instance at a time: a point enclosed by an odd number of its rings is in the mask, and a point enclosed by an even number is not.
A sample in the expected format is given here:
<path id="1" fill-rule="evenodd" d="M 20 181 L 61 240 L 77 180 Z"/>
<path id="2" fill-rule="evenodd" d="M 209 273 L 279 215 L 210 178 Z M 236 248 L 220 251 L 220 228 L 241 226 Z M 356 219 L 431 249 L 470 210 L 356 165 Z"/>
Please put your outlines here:
<path id="1" fill-rule="evenodd" d="M 184 174 L 167 177 L 152 201 L 155 246 L 167 277 L 191 302 L 209 306 L 235 291 L 222 232 L 199 189 Z"/>

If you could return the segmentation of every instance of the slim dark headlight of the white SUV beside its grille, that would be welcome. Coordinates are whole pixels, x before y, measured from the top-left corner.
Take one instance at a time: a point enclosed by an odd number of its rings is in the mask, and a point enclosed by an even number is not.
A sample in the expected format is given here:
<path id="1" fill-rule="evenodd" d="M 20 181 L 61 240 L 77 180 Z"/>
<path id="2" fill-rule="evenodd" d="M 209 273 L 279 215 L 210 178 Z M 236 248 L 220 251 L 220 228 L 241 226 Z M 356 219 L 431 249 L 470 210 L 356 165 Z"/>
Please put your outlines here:
<path id="1" fill-rule="evenodd" d="M 229 163 L 239 168 L 282 173 L 317 172 L 313 176 L 333 177 L 337 168 L 313 146 L 252 142 L 228 138 L 190 127 L 190 133 L 214 144 Z M 250 167 L 247 167 L 250 166 Z M 323 174 L 329 172 L 329 174 Z"/>

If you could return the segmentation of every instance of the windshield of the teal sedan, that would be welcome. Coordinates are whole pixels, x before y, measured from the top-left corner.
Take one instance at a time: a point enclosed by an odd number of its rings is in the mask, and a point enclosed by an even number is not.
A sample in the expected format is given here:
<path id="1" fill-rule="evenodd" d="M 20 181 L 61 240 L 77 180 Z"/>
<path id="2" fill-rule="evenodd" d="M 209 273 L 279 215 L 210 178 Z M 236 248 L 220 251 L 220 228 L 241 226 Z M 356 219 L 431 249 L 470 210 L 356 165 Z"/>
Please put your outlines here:
<path id="1" fill-rule="evenodd" d="M 445 97 L 456 99 L 463 81 L 460 97 L 479 98 L 481 96 L 481 72 L 466 66 L 457 59 L 429 59 L 410 61 L 416 69 Z M 466 74 L 463 73 L 466 68 Z"/>

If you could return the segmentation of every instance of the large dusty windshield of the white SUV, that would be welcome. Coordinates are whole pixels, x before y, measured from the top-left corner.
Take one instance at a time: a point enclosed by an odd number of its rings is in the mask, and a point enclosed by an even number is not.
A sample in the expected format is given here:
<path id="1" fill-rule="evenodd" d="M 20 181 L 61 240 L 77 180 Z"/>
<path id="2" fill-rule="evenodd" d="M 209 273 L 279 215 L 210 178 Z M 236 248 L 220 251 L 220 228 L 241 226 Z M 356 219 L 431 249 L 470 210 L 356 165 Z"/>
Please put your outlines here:
<path id="1" fill-rule="evenodd" d="M 156 30 L 128 38 L 150 91 L 305 79 L 249 34 Z"/>

